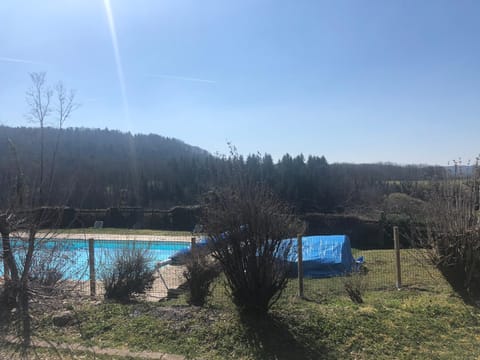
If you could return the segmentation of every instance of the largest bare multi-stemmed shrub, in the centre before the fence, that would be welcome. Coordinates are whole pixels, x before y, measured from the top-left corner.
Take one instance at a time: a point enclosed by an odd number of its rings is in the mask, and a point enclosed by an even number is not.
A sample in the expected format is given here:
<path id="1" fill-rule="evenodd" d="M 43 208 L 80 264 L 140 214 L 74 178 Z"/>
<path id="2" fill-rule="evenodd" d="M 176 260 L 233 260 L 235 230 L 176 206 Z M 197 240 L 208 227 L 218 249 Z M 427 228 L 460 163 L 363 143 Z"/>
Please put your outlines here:
<path id="1" fill-rule="evenodd" d="M 266 186 L 238 174 L 206 196 L 202 218 L 209 248 L 241 312 L 264 315 L 288 281 L 291 242 L 300 224 Z"/>

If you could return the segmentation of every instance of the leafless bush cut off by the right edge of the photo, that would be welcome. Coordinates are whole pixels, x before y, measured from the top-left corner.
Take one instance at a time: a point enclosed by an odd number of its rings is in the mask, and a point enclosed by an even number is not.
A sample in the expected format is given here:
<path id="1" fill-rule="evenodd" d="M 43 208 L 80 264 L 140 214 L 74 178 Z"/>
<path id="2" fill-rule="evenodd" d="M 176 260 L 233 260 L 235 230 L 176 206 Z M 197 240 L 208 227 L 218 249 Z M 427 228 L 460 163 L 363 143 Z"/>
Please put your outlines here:
<path id="1" fill-rule="evenodd" d="M 478 184 L 474 178 L 435 183 L 426 207 L 420 246 L 452 285 L 470 298 L 480 295 Z"/>

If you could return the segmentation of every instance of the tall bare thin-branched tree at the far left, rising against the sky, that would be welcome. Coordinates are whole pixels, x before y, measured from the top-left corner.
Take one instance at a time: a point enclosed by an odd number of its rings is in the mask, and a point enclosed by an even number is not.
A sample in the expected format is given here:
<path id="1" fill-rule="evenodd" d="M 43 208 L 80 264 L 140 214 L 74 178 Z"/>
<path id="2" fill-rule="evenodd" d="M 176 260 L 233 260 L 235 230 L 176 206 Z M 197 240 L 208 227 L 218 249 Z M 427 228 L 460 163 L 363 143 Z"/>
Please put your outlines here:
<path id="1" fill-rule="evenodd" d="M 45 73 L 30 74 L 32 87 L 26 92 L 28 118 L 40 128 L 40 166 L 38 180 L 26 179 L 16 148 L 21 144 L 11 143 L 11 155 L 15 164 L 15 184 L 10 201 L 0 208 L 0 233 L 2 236 L 2 257 L 4 261 L 4 301 L 17 308 L 19 313 L 20 338 L 24 354 L 31 344 L 31 317 L 29 304 L 35 289 L 32 287 L 32 271 L 37 263 L 39 243 L 38 230 L 55 222 L 60 212 L 44 208 L 49 205 L 55 176 L 55 162 L 59 151 L 60 133 L 51 156 L 51 165 L 46 177 L 44 128 L 47 120 L 55 114 L 59 129 L 76 109 L 75 94 L 67 93 L 59 84 L 52 90 L 46 83 Z M 55 103 L 52 99 L 55 97 Z M 30 172 L 31 173 L 31 172 Z M 48 191 L 46 193 L 45 191 Z M 14 234 L 15 241 L 11 235 Z"/>

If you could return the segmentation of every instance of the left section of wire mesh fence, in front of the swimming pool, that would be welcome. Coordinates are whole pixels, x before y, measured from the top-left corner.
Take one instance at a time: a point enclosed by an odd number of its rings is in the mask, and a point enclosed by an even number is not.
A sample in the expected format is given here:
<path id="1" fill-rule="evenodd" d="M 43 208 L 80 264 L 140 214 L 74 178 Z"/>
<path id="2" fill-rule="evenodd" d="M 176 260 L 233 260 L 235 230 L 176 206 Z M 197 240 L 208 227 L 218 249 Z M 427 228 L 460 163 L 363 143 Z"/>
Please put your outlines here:
<path id="1" fill-rule="evenodd" d="M 173 264 L 173 255 L 190 249 L 192 237 L 184 233 L 162 235 L 49 233 L 35 240 L 30 281 L 43 287 L 79 295 L 102 297 L 103 278 L 112 270 L 119 256 L 140 251 L 147 267 L 154 271 L 154 281 L 145 294 L 147 300 L 160 300 L 172 294 L 182 283 L 184 268 Z M 28 238 L 11 237 L 12 253 L 20 270 L 25 263 Z M 0 257 L 0 282 L 10 272 Z"/>

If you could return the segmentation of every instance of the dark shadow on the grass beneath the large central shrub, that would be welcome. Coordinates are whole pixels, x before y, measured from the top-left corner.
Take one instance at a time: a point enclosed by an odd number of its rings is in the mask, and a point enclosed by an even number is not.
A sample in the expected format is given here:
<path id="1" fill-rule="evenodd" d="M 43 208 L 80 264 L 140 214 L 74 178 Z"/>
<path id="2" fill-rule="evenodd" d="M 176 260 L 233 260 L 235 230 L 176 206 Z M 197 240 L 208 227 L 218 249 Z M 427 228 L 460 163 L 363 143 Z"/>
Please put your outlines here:
<path id="1" fill-rule="evenodd" d="M 298 339 L 284 320 L 275 315 L 241 316 L 249 345 L 256 359 L 331 359 L 332 353 L 306 339 Z M 319 334 L 320 336 L 320 334 Z M 303 341 L 302 341 L 303 340 Z"/>

